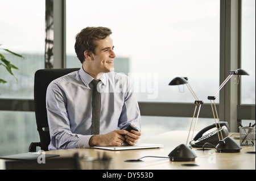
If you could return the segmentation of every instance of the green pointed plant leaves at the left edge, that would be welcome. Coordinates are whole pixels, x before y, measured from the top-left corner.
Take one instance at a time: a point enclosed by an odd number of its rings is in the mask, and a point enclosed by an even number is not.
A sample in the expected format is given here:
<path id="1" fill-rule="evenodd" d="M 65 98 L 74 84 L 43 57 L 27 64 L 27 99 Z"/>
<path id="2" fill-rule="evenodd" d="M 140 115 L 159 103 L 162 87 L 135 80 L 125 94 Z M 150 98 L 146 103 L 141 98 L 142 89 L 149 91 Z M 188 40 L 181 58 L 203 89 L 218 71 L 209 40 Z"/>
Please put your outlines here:
<path id="1" fill-rule="evenodd" d="M 2 44 L 0 44 L 1 46 Z M 6 52 L 9 52 L 15 56 L 18 56 L 20 58 L 24 58 L 23 56 L 21 56 L 20 54 L 14 53 L 12 51 L 10 51 L 9 49 L 4 49 L 4 48 L 0 48 L 1 50 L 5 50 Z M 10 61 L 6 60 L 5 56 L 3 56 L 3 54 L 0 53 L 0 66 L 3 65 L 6 70 L 13 75 L 13 77 L 16 79 L 16 81 L 18 82 L 18 79 L 15 77 L 15 75 L 13 74 L 13 71 L 11 71 L 11 69 L 18 69 L 15 65 L 11 64 Z M 5 81 L 4 79 L 0 78 L 0 83 L 6 83 L 7 81 Z"/>

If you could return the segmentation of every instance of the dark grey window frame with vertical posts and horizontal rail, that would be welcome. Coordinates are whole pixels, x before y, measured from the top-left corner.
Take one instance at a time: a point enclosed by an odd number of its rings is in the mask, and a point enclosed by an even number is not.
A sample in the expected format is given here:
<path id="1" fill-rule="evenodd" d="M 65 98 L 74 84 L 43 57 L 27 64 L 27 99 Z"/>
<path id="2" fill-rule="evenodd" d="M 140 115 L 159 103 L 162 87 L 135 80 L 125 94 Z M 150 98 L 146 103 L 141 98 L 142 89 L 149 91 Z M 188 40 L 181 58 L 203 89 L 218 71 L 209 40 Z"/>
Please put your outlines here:
<path id="1" fill-rule="evenodd" d="M 220 1 L 220 83 L 230 70 L 241 67 L 241 3 L 242 0 Z M 65 16 L 65 0 L 53 1 L 53 68 L 65 68 Z M 238 132 L 238 123 L 243 119 L 255 120 L 255 104 L 241 104 L 240 90 L 241 83 L 237 86 L 229 81 L 219 93 L 218 115 L 221 121 L 228 121 L 230 132 Z M 0 102 L 0 110 L 34 111 L 32 99 L 0 98 Z M 195 104 L 139 102 L 139 108 L 142 116 L 192 117 Z M 199 117 L 213 118 L 209 103 L 203 104 Z"/>

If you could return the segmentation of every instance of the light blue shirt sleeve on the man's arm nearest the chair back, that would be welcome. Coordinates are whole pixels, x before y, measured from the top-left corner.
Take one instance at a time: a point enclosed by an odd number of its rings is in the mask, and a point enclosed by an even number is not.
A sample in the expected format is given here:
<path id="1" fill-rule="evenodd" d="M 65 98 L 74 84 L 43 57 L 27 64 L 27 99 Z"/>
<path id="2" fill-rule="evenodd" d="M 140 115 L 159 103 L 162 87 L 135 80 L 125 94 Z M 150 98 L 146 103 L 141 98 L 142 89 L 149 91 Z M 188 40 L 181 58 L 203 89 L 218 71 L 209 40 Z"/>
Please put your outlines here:
<path id="1" fill-rule="evenodd" d="M 67 113 L 67 97 L 65 91 L 56 82 L 49 84 L 46 94 L 47 118 L 51 143 L 49 150 L 90 148 L 92 135 L 81 135 L 71 132 Z"/>

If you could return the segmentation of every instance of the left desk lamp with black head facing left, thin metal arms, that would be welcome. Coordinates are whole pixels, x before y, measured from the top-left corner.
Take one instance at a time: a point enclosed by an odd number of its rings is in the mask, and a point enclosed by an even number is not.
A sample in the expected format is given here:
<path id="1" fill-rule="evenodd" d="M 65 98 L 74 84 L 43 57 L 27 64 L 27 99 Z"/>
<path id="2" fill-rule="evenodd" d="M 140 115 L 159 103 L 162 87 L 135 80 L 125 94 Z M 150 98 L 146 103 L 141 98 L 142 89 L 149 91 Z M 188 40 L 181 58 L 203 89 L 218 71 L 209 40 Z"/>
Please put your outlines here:
<path id="1" fill-rule="evenodd" d="M 193 153 L 192 149 L 187 145 L 188 145 L 189 134 L 191 132 L 191 128 L 192 128 L 192 124 L 193 124 L 193 119 L 195 118 L 195 115 L 196 115 L 197 105 L 199 105 L 199 109 L 197 111 L 197 116 L 196 116 L 196 121 L 195 121 L 195 125 L 193 128 L 193 133 L 195 131 L 196 123 L 197 123 L 197 120 L 199 117 L 199 112 L 200 112 L 201 105 L 203 104 L 203 101 L 201 101 L 197 98 L 195 92 L 191 89 L 191 86 L 189 86 L 189 83 L 187 80 L 188 80 L 188 78 L 186 78 L 186 77 L 176 77 L 176 78 L 172 79 L 172 81 L 169 83 L 170 86 L 184 85 L 184 84 L 187 85 L 189 91 L 191 91 L 193 97 L 196 99 L 195 100 L 196 107 L 195 107 L 195 111 L 193 113 L 191 125 L 189 128 L 186 145 L 181 144 L 181 145 L 177 146 L 174 150 L 171 151 L 171 153 L 168 155 L 170 157 L 171 161 L 195 161 L 195 158 L 196 158 L 196 154 Z M 192 138 L 193 138 L 193 133 L 192 133 Z"/>

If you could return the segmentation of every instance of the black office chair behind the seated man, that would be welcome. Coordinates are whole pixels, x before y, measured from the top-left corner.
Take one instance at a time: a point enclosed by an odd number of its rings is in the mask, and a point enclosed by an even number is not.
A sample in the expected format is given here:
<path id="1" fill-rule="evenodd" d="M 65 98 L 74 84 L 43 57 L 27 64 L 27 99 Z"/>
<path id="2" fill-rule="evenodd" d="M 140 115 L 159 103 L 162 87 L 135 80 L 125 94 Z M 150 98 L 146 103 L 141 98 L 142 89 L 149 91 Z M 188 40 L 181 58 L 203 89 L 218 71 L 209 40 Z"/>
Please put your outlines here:
<path id="1" fill-rule="evenodd" d="M 48 145 L 51 140 L 49 136 L 49 126 L 46 112 L 46 90 L 49 83 L 56 78 L 79 69 L 80 68 L 41 69 L 36 71 L 34 84 L 34 104 L 36 125 L 38 127 L 40 142 L 31 142 L 28 151 L 35 152 L 36 147 L 38 146 L 41 148 L 41 150 L 48 151 Z"/>

